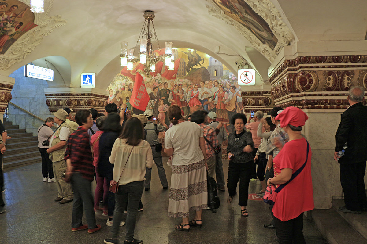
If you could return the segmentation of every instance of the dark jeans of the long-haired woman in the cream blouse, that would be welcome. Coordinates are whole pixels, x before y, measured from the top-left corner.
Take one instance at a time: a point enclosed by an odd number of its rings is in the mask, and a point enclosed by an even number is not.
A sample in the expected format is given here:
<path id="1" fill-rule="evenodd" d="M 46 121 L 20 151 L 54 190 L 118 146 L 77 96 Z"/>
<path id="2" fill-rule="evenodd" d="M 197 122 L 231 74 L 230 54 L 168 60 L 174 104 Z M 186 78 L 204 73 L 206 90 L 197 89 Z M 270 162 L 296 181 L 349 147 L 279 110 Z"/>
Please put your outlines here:
<path id="1" fill-rule="evenodd" d="M 144 181 L 133 181 L 126 185 L 119 185 L 115 195 L 116 206 L 113 214 L 112 239 L 119 236 L 119 226 L 122 221 L 123 211 L 127 205 L 126 237 L 127 241 L 134 241 L 134 230 L 139 201 L 143 195 Z"/>

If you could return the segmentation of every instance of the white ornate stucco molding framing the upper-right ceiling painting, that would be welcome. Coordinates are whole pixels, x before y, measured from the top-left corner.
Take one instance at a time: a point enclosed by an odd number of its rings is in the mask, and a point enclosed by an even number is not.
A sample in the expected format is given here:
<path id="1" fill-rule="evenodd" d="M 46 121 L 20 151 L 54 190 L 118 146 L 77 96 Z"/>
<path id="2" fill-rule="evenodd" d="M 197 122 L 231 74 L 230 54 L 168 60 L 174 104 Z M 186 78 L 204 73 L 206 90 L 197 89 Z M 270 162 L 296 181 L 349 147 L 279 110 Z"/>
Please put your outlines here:
<path id="1" fill-rule="evenodd" d="M 250 44 L 258 50 L 262 55 L 264 55 L 270 62 L 275 60 L 283 46 L 290 45 L 294 40 L 294 35 L 292 31 L 283 22 L 280 12 L 277 10 L 275 5 L 269 0 L 246 0 L 246 3 L 250 5 L 252 10 L 254 10 L 261 18 L 268 23 L 270 30 L 277 37 L 278 42 L 272 50 L 268 45 L 263 44 L 254 34 L 251 33 L 245 26 L 237 22 L 235 19 L 230 18 L 225 15 L 224 11 L 218 7 L 212 0 L 206 0 L 208 4 L 208 12 L 210 15 L 224 20 L 228 25 L 234 26 L 249 42 Z"/>

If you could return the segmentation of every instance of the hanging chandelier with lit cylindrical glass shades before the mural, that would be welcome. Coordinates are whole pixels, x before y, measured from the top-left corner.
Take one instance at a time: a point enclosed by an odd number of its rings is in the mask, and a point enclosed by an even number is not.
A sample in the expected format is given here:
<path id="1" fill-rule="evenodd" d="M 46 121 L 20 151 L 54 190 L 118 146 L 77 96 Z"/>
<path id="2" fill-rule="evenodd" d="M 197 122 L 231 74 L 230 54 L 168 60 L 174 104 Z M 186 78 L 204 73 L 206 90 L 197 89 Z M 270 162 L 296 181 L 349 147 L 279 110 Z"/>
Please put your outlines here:
<path id="1" fill-rule="evenodd" d="M 141 29 L 137 45 L 134 49 L 128 49 L 127 42 L 121 42 L 121 66 L 127 66 L 127 70 L 133 70 L 133 63 L 141 63 L 144 64 L 144 72 L 146 76 L 150 75 L 150 72 L 155 72 L 156 64 L 159 61 L 164 62 L 165 65 L 168 66 L 168 70 L 174 70 L 174 56 L 172 53 L 172 42 L 165 42 L 166 52 L 164 55 L 161 54 L 161 50 L 159 47 L 159 42 L 157 39 L 156 30 L 154 28 L 153 19 L 155 17 L 154 12 L 150 10 L 146 10 L 143 14 L 145 22 Z M 152 24 L 152 28 L 150 27 L 150 23 Z M 156 56 L 156 52 L 154 52 L 152 38 L 156 41 L 157 44 L 157 52 L 159 53 Z M 140 52 L 139 57 L 134 56 L 135 49 L 140 43 Z"/>

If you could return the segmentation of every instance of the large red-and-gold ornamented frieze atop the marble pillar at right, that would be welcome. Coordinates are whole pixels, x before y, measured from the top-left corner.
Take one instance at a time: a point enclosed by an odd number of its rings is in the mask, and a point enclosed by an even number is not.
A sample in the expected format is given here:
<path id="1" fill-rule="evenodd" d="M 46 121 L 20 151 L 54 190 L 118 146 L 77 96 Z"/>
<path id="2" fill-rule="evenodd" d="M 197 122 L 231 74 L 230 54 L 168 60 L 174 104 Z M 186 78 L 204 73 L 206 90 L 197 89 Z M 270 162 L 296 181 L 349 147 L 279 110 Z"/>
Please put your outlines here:
<path id="1" fill-rule="evenodd" d="M 367 56 L 297 57 L 285 60 L 269 80 L 276 106 L 345 109 L 352 86 L 367 90 Z"/>

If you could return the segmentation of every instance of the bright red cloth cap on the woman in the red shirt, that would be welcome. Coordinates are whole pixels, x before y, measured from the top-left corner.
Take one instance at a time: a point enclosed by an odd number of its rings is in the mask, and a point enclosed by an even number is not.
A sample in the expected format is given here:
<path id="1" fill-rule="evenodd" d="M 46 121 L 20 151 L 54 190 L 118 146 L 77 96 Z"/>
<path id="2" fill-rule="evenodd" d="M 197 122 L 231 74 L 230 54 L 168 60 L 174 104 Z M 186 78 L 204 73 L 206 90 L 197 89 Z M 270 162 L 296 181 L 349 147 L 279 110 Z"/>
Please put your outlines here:
<path id="1" fill-rule="evenodd" d="M 287 107 L 275 117 L 275 120 L 280 120 L 280 127 L 282 128 L 288 124 L 298 127 L 305 125 L 308 116 L 299 108 Z"/>

